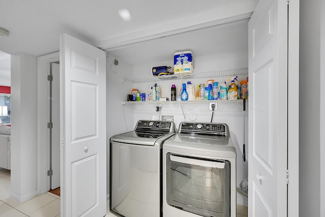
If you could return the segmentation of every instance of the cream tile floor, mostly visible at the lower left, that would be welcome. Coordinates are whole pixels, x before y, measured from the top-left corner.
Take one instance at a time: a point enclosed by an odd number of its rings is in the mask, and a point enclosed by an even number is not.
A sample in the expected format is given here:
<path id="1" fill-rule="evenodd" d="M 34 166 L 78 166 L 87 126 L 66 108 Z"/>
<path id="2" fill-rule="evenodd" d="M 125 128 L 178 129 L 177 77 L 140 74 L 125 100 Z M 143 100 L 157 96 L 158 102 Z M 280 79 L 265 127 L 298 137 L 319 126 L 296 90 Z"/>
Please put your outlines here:
<path id="1" fill-rule="evenodd" d="M 10 170 L 0 168 L 0 217 L 59 217 L 60 197 L 52 193 L 36 196 L 18 203 L 9 198 Z M 107 217 L 115 215 L 109 211 Z M 247 216 L 247 207 L 237 206 L 237 217 Z"/>

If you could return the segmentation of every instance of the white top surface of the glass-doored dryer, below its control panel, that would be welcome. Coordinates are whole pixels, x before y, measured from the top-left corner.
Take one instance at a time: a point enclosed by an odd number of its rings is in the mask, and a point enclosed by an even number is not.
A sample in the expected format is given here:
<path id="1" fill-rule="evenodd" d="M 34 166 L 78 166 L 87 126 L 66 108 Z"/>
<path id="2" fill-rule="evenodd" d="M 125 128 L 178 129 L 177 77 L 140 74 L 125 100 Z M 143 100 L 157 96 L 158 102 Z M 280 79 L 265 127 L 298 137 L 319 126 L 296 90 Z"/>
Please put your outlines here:
<path id="1" fill-rule="evenodd" d="M 236 158 L 231 138 L 175 134 L 164 142 L 164 150 L 210 157 Z"/>

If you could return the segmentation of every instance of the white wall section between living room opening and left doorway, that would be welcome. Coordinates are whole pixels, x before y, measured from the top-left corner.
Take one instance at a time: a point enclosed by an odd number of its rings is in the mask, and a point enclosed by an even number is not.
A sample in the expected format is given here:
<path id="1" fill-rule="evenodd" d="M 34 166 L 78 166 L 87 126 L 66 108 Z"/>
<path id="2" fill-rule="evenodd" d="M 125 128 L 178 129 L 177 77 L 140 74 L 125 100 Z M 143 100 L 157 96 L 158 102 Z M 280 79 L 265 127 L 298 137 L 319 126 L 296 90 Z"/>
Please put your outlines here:
<path id="1" fill-rule="evenodd" d="M 37 195 L 37 57 L 11 55 L 10 197 L 23 202 Z"/>

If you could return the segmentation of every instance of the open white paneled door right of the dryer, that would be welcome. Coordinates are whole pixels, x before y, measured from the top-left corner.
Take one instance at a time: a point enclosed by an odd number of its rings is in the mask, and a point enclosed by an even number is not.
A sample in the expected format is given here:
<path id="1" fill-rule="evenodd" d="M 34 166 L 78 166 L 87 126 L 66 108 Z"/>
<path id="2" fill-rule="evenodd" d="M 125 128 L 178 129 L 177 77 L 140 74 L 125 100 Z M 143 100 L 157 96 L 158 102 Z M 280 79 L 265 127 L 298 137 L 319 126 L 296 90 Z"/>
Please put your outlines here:
<path id="1" fill-rule="evenodd" d="M 259 1 L 248 24 L 251 217 L 287 216 L 288 2 Z"/>

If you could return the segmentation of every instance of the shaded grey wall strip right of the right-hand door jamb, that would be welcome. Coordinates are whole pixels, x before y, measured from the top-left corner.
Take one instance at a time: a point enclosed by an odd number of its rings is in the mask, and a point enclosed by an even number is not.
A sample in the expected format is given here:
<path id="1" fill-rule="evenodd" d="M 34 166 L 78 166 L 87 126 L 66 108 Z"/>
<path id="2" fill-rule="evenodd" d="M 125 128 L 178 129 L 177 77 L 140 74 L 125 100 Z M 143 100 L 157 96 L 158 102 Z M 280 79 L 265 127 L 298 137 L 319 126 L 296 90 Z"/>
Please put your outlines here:
<path id="1" fill-rule="evenodd" d="M 300 1 L 299 214 L 320 215 L 320 0 Z M 323 58 L 321 59 L 323 61 Z M 320 82 L 319 82 L 320 81 Z M 322 109 L 322 111 L 324 111 Z M 324 131 L 322 131 L 324 132 Z M 322 157 L 323 158 L 323 155 Z M 323 206 L 323 203 L 322 203 Z"/>

